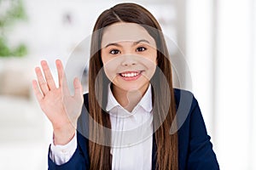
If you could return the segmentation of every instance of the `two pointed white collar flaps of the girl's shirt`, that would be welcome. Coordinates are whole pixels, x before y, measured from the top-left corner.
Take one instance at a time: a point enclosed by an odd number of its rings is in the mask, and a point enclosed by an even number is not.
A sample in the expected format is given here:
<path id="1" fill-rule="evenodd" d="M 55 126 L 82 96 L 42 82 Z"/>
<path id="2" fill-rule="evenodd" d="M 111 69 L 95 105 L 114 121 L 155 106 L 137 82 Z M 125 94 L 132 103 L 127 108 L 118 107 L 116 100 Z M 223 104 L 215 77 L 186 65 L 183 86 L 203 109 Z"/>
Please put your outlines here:
<path id="1" fill-rule="evenodd" d="M 108 84 L 108 104 L 106 107 L 106 111 L 110 111 L 117 106 L 122 108 L 122 106 L 119 105 L 119 102 L 114 98 L 110 85 L 111 83 Z M 152 111 L 151 84 L 149 84 L 146 93 L 143 95 L 143 98 L 139 101 L 139 103 L 135 106 L 135 108 L 137 108 L 137 106 L 139 105 L 142 106 L 145 111 L 148 111 L 148 112 Z"/>

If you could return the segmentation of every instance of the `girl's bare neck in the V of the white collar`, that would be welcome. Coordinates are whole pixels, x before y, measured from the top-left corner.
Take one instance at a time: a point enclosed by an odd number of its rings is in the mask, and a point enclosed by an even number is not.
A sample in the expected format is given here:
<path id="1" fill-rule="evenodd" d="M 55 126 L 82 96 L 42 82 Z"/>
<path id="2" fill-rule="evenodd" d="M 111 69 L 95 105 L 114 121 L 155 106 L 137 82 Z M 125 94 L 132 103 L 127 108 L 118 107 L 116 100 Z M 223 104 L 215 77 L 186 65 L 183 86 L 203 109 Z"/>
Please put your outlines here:
<path id="1" fill-rule="evenodd" d="M 126 111 L 132 111 L 148 89 L 148 84 L 140 89 L 126 91 L 113 85 L 112 92 L 114 98 L 119 102 Z"/>

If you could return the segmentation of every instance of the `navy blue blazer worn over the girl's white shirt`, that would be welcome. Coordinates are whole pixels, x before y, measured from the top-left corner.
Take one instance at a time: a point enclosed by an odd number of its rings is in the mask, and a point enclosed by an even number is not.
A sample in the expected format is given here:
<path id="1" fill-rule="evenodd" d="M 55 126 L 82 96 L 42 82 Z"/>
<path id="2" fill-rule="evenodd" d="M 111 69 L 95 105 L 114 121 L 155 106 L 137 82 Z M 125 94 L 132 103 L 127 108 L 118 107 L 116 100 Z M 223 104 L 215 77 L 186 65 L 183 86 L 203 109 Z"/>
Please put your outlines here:
<path id="1" fill-rule="evenodd" d="M 212 150 L 210 136 L 201 115 L 197 100 L 188 91 L 174 89 L 177 104 L 177 127 L 178 128 L 178 169 L 179 170 L 215 170 L 219 169 L 218 161 Z M 88 94 L 84 94 L 84 105 L 88 108 Z M 86 111 L 86 110 L 85 110 Z M 84 114 L 84 107 L 78 121 L 78 147 L 67 163 L 61 166 L 48 156 L 50 170 L 89 169 L 90 160 L 88 152 L 88 120 Z M 88 112 L 87 112 L 88 113 Z M 83 133 L 83 135 L 81 134 Z M 152 169 L 156 164 L 156 144 L 153 136 Z"/>

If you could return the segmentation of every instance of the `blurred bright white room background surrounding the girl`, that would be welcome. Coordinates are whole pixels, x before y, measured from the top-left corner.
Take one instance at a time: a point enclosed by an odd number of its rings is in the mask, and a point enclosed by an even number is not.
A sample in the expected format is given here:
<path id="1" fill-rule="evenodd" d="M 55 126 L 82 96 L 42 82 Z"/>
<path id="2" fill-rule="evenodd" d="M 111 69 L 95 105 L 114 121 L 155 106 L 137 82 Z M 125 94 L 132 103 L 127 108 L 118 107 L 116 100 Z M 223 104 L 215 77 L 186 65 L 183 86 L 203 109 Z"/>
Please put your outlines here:
<path id="1" fill-rule="evenodd" d="M 34 68 L 47 59 L 56 78 L 55 59 L 82 53 L 97 16 L 122 2 L 0 0 L 0 169 L 47 169 L 52 129 L 32 94 Z M 170 54 L 185 63 L 176 87 L 198 99 L 221 169 L 256 169 L 256 2 L 130 2 L 177 45 Z"/>

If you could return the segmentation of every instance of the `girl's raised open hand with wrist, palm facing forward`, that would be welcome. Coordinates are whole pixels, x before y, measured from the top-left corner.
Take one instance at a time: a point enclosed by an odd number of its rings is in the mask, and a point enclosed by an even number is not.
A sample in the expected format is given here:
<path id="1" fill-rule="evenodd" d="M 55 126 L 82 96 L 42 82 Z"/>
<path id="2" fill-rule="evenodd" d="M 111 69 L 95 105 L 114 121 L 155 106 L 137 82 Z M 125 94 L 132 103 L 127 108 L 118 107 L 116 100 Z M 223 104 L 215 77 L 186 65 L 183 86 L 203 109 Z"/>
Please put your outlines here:
<path id="1" fill-rule="evenodd" d="M 38 81 L 32 81 L 32 88 L 42 111 L 52 123 L 55 144 L 67 144 L 73 138 L 81 113 L 84 102 L 83 90 L 79 79 L 76 77 L 73 81 L 75 92 L 74 95 L 71 95 L 61 60 L 57 59 L 55 64 L 58 71 L 59 87 L 56 87 L 49 66 L 43 60 L 41 65 L 44 76 L 41 69 L 36 67 Z"/>

